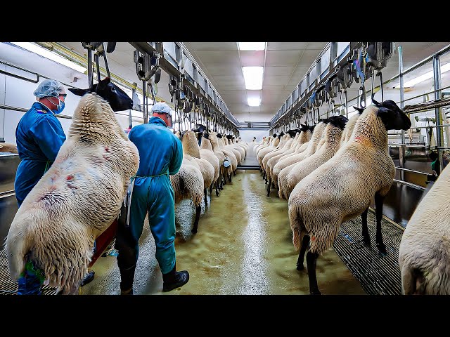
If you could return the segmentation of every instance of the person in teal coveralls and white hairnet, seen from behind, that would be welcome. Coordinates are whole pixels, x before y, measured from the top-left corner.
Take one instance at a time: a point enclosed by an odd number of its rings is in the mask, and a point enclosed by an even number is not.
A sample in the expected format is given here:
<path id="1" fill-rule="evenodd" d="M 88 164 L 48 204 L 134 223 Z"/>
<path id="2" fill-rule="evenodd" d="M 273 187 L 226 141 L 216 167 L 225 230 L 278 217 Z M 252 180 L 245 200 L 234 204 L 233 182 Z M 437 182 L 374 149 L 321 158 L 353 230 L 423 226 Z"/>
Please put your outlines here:
<path id="1" fill-rule="evenodd" d="M 115 248 L 120 270 L 122 295 L 133 293 L 134 270 L 139 256 L 139 238 L 148 212 L 150 231 L 155 238 L 156 260 L 162 272 L 162 291 L 171 291 L 189 280 L 186 270 L 176 271 L 175 201 L 169 180 L 181 168 L 183 145 L 172 131 L 172 110 L 165 102 L 153 105 L 148 124 L 134 126 L 129 140 L 139 151 L 139 169 L 131 178 L 129 220 L 119 223 Z M 134 185 L 133 185 L 134 184 Z"/>

